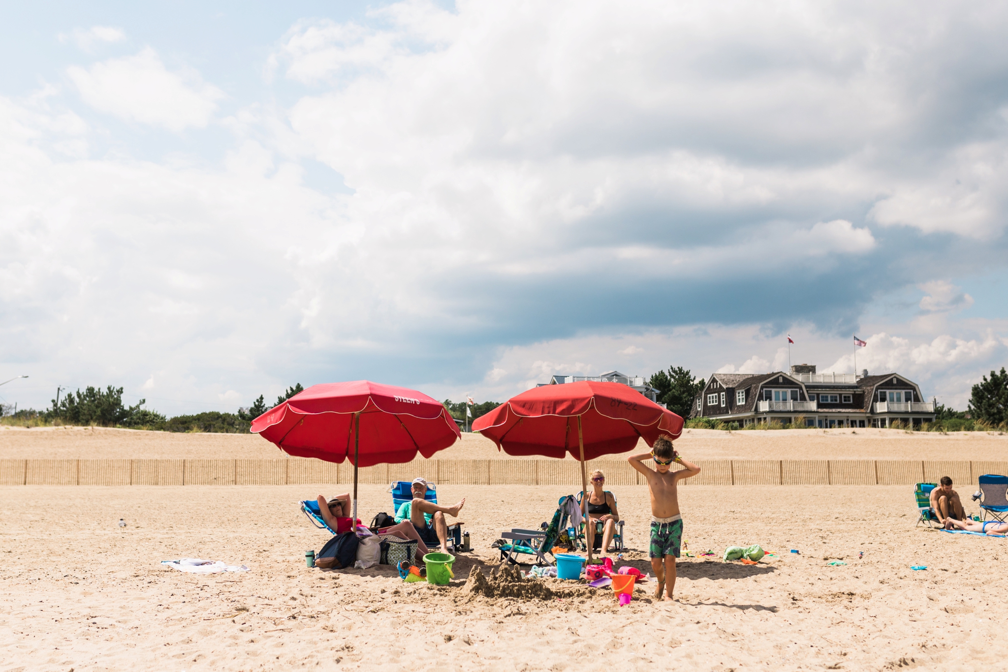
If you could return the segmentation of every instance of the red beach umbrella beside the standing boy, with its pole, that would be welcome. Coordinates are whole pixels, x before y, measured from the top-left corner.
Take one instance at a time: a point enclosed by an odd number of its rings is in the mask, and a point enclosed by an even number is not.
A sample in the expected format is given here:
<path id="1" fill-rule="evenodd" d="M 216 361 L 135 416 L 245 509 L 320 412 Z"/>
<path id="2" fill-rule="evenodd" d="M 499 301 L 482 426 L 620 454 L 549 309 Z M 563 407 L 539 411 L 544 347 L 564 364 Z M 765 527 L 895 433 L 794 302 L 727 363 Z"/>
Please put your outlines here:
<path id="1" fill-rule="evenodd" d="M 543 385 L 511 397 L 477 418 L 473 431 L 509 455 L 563 458 L 570 453 L 581 460 L 582 492 L 587 493 L 586 459 L 626 452 L 638 438 L 648 445 L 661 434 L 676 439 L 682 418 L 622 383 L 582 381 Z M 587 505 L 588 498 L 582 498 L 586 514 Z"/>

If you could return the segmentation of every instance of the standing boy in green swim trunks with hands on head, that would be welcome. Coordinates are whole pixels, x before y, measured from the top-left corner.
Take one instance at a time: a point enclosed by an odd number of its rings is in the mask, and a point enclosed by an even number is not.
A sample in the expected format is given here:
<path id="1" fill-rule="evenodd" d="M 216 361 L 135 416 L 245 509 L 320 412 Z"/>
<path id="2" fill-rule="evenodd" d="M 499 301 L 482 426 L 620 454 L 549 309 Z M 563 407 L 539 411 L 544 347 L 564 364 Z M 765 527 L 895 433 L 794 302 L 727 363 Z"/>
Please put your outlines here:
<path id="1" fill-rule="evenodd" d="M 655 468 L 651 469 L 643 462 L 653 458 Z M 682 541 L 682 516 L 679 514 L 679 499 L 676 485 L 683 479 L 700 474 L 700 467 L 690 461 L 682 459 L 672 447 L 672 441 L 667 436 L 659 436 L 654 442 L 651 452 L 627 457 L 627 461 L 647 479 L 647 490 L 651 494 L 651 568 L 658 579 L 658 588 L 654 598 L 661 597 L 672 600 L 675 589 L 675 558 L 679 556 L 679 545 Z M 685 468 L 672 472 L 672 462 L 678 462 Z"/>

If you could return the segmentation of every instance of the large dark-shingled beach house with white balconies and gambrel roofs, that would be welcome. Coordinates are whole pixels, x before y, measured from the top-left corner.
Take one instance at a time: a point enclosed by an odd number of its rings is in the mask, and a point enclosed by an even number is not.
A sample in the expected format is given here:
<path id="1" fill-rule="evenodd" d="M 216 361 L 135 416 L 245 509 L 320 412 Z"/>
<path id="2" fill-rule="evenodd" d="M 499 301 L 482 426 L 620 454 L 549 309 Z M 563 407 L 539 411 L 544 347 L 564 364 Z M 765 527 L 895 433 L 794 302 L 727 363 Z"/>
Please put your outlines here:
<path id="1" fill-rule="evenodd" d="M 934 421 L 934 404 L 905 376 L 817 374 L 814 365 L 790 373 L 713 374 L 694 399 L 690 418 L 746 426 L 760 422 L 806 427 L 919 426 Z"/>

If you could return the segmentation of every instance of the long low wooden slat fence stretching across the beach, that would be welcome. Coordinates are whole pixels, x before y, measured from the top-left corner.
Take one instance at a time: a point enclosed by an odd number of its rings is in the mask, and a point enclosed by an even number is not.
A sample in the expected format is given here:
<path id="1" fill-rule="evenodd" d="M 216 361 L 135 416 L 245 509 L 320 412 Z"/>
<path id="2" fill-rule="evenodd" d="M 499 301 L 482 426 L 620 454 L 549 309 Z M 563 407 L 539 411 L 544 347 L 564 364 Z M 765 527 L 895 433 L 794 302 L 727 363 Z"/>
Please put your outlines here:
<path id="1" fill-rule="evenodd" d="M 653 467 L 653 462 L 647 462 Z M 683 486 L 910 486 L 975 485 L 983 474 L 1008 474 L 1008 461 L 919 459 L 705 459 Z M 608 486 L 642 486 L 625 459 L 589 460 Z M 0 486 L 294 486 L 353 483 L 349 462 L 321 459 L 0 459 Z M 422 477 L 444 485 L 578 488 L 574 459 L 414 459 L 359 469 L 359 482 L 387 485 Z"/>

